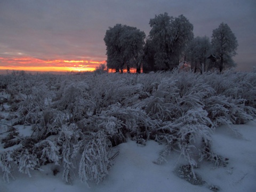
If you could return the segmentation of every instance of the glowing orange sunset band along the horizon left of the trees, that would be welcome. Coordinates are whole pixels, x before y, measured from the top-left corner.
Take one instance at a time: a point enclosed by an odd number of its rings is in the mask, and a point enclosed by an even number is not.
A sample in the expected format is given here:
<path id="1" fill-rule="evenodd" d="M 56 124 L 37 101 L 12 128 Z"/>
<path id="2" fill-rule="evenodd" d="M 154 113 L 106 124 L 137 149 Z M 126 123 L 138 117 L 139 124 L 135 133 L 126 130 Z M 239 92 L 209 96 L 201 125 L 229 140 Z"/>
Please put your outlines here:
<path id="1" fill-rule="evenodd" d="M 100 60 L 43 60 L 32 57 L 0 57 L 0 70 L 25 71 L 93 71 L 105 61 Z"/>

